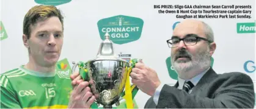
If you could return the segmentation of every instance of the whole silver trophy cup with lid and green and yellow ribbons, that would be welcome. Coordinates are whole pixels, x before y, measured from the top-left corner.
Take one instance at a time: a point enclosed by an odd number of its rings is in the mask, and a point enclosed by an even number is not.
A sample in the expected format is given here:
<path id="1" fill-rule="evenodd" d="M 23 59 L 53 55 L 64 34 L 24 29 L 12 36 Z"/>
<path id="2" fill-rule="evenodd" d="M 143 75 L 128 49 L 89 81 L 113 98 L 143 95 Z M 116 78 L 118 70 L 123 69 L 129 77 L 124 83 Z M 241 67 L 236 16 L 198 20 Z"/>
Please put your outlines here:
<path id="1" fill-rule="evenodd" d="M 134 63 L 127 62 L 114 54 L 112 41 L 109 34 L 105 35 L 106 40 L 100 44 L 96 58 L 87 62 L 73 62 L 72 72 L 76 66 L 82 79 L 90 82 L 90 90 L 96 97 L 98 106 L 112 108 L 112 105 L 119 105 L 120 96 L 125 88 L 125 83 L 130 77 L 131 68 Z"/>

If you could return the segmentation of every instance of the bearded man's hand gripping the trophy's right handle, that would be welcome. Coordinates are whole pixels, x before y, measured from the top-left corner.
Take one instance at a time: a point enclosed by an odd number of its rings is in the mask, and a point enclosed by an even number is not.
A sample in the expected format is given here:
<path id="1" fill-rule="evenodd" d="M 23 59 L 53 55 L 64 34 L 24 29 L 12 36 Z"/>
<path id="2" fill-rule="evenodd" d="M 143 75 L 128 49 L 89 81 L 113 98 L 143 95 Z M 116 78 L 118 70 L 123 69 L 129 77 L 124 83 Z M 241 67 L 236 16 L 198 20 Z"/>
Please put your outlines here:
<path id="1" fill-rule="evenodd" d="M 136 63 L 134 68 L 131 71 L 131 82 L 136 85 L 139 90 L 153 96 L 156 88 L 160 85 L 160 80 L 156 71 L 148 66 L 145 66 L 144 63 Z"/>

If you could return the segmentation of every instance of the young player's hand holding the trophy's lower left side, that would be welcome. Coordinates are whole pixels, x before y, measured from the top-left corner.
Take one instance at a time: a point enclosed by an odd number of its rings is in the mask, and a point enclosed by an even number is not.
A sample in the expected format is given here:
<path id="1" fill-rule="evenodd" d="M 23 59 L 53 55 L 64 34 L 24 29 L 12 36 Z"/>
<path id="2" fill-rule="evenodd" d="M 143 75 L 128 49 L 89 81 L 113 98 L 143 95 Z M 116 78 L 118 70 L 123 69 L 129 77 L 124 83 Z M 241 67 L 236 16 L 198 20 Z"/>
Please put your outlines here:
<path id="1" fill-rule="evenodd" d="M 68 108 L 90 108 L 94 100 L 95 96 L 90 91 L 89 82 L 81 82 L 74 87 Z"/>

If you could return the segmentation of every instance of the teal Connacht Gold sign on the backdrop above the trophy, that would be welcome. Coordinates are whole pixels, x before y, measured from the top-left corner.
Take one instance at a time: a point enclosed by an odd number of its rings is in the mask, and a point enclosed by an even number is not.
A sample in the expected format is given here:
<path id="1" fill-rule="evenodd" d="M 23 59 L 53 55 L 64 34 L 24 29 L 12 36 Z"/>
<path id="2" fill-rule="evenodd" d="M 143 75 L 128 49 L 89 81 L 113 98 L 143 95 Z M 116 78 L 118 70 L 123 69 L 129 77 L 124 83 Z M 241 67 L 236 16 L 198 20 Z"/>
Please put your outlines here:
<path id="1" fill-rule="evenodd" d="M 125 44 L 141 38 L 144 21 L 141 18 L 132 16 L 112 16 L 98 21 L 100 37 L 104 40 L 106 32 L 110 35 L 110 40 L 115 44 Z"/>

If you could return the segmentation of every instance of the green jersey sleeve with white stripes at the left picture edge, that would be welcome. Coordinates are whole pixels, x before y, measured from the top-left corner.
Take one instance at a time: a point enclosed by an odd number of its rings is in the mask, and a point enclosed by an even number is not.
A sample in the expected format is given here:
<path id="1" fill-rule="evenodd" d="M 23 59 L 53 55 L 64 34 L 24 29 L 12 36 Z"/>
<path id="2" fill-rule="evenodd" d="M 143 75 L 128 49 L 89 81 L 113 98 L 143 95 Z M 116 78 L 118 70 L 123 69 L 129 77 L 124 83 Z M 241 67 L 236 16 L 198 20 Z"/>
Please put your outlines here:
<path id="1" fill-rule="evenodd" d="M 9 79 L 1 75 L 1 108 L 21 108 Z"/>

